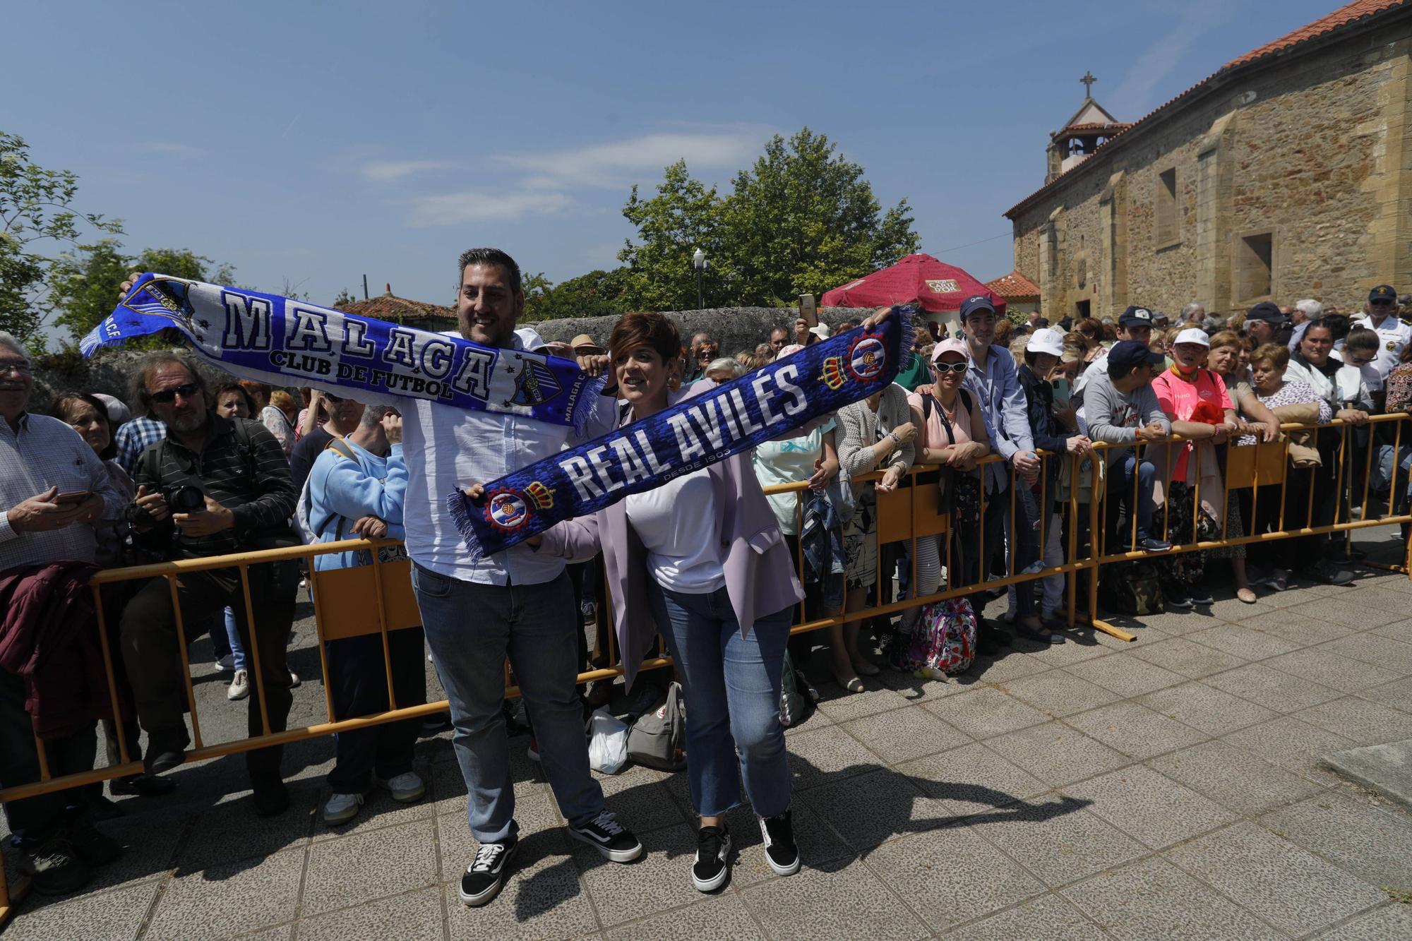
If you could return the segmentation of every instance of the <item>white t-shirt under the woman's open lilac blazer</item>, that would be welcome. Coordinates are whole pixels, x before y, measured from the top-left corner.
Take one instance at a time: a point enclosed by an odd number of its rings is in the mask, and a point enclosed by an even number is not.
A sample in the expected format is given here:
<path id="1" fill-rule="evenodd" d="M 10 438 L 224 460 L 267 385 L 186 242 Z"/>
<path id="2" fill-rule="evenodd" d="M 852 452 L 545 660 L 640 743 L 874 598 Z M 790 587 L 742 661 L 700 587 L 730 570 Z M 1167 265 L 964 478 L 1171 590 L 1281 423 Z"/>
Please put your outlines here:
<path id="1" fill-rule="evenodd" d="M 705 468 L 633 493 L 627 521 L 647 547 L 647 567 L 662 588 L 707 595 L 726 584 L 716 545 L 716 495 Z"/>

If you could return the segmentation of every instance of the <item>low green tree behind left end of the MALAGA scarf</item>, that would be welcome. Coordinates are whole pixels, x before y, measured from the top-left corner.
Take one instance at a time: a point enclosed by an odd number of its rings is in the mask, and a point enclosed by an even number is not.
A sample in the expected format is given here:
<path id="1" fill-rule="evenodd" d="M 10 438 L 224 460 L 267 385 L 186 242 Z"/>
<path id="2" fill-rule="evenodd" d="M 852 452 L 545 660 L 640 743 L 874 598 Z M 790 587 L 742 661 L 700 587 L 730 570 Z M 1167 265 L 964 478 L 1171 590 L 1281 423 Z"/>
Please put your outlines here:
<path id="1" fill-rule="evenodd" d="M 230 264 L 210 268 L 210 259 L 188 249 L 145 249 L 137 257 L 120 251 L 117 242 L 79 246 L 55 261 L 51 292 L 59 315 L 54 322 L 68 328 L 73 342 L 99 325 L 117 305 L 117 294 L 133 271 L 157 271 L 193 281 L 233 284 Z M 209 276 L 208 276 L 209 271 Z"/>

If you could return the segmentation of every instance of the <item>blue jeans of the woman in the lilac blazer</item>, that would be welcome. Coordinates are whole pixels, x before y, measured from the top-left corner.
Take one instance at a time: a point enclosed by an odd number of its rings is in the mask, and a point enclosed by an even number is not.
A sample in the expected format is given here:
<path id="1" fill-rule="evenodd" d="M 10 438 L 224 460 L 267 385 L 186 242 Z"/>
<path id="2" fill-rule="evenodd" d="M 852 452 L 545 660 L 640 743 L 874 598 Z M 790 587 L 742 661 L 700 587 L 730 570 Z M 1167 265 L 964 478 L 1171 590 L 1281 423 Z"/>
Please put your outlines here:
<path id="1" fill-rule="evenodd" d="M 686 695 L 686 779 L 692 807 L 716 817 L 740 805 L 740 780 L 760 817 L 789 810 L 789 762 L 779 682 L 794 606 L 757 617 L 750 634 L 724 588 L 683 595 L 648 585 L 652 617 Z"/>

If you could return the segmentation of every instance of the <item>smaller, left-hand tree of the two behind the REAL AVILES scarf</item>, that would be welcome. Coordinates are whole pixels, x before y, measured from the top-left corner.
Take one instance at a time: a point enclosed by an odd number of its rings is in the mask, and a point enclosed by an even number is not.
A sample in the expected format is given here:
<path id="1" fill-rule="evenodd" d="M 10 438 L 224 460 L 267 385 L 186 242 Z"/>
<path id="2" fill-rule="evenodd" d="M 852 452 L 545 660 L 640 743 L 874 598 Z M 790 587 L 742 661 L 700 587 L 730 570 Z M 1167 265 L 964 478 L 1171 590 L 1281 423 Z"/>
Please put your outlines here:
<path id="1" fill-rule="evenodd" d="M 720 251 L 722 201 L 714 187 L 707 189 L 692 178 L 685 160 L 666 168 L 655 196 L 642 199 L 634 185 L 623 216 L 637 226 L 641 240 L 630 239 L 618 251 L 618 261 L 628 268 L 624 300 L 631 308 L 679 311 L 696 307 L 696 271 L 692 268 L 696 249 L 706 251 L 710 266 L 703 278 L 707 305 L 726 302 L 722 287 L 729 284 L 730 270 Z"/>

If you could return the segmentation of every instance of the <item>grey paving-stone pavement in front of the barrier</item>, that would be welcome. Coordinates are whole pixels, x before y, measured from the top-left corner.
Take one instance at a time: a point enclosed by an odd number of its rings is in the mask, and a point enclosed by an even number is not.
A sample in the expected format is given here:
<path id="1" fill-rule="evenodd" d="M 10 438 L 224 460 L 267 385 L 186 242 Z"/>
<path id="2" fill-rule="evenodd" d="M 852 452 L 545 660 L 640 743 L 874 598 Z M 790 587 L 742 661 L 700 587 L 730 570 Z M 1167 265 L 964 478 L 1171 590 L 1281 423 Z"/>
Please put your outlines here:
<path id="1" fill-rule="evenodd" d="M 1387 534 L 1358 545 L 1396 550 Z M 456 880 L 474 841 L 449 736 L 418 743 L 421 804 L 378 794 L 342 828 L 318 817 L 322 739 L 287 750 L 294 805 L 277 819 L 254 817 L 239 757 L 181 769 L 172 798 L 121 798 L 127 817 L 102 824 L 121 860 L 73 896 L 31 896 L 3 941 L 1412 937 L 1395 900 L 1412 892 L 1412 814 L 1316 766 L 1412 735 L 1412 579 L 1368 568 L 1248 606 L 1216 593 L 1209 613 L 1120 620 L 1131 644 L 1079 632 L 947 682 L 820 682 L 788 733 L 805 860 L 789 879 L 741 808 L 731 883 L 696 893 L 685 776 L 641 767 L 603 786 L 647 855 L 603 862 L 566 838 L 517 738 L 517 870 L 467 910 Z M 294 654 L 306 677 L 311 636 Z M 208 738 L 239 735 L 243 704 L 196 673 Z M 291 722 L 322 712 L 306 681 Z"/>

